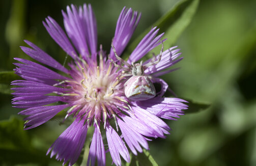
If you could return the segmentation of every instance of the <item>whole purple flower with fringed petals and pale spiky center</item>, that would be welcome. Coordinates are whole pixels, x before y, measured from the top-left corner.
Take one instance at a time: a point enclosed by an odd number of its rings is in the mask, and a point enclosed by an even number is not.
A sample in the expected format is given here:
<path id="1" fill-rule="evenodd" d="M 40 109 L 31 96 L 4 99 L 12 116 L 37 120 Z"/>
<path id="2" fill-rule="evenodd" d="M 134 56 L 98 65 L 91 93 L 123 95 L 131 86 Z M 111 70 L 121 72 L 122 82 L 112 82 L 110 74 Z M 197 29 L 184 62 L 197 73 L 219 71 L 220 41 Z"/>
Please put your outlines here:
<path id="1" fill-rule="evenodd" d="M 116 165 L 121 165 L 120 155 L 129 162 L 128 149 L 137 155 L 143 148 L 149 149 L 149 137 L 165 138 L 165 134 L 169 134 L 170 128 L 161 118 L 175 120 L 183 115 L 182 109 L 187 109 L 187 105 L 182 103 L 185 100 L 162 97 L 168 85 L 163 79 L 157 78 L 174 70 L 169 67 L 182 59 L 177 59 L 181 55 L 178 53 L 180 50 L 173 47 L 163 51 L 159 63 L 145 68 L 144 74 L 149 75 L 149 81 L 161 85 L 160 92 L 156 92 L 156 96 L 149 100 L 130 100 L 125 96 L 124 87 L 131 75 L 124 74 L 122 68 L 125 66 L 121 66 L 121 69 L 115 67 L 120 65 L 119 62 L 115 63 L 115 50 L 117 55 L 122 54 L 139 22 L 140 14 L 123 8 L 112 40 L 113 48 L 108 56 L 102 46 L 97 49 L 97 25 L 91 5 L 84 4 L 79 8 L 71 5 L 62 14 L 67 35 L 51 17 L 47 17 L 43 24 L 73 61 L 67 69 L 25 40 L 31 48 L 21 47 L 24 53 L 64 74 L 29 60 L 15 58 L 21 63 L 14 63 L 17 66 L 14 70 L 24 80 L 12 82 L 12 85 L 17 86 L 13 88 L 12 103 L 14 107 L 24 108 L 19 113 L 27 115 L 24 119 L 25 130 L 42 125 L 63 109 L 68 109 L 65 119 L 72 116 L 74 121 L 47 152 L 50 157 L 55 155 L 57 160 L 63 160 L 63 164 L 73 165 L 76 162 L 90 127 L 94 128 L 94 134 L 88 165 L 95 165 L 96 159 L 98 165 L 105 165 L 106 149 Z M 152 28 L 140 41 L 126 63 L 128 66 L 162 43 L 160 39 L 163 33 L 157 35 L 158 31 L 156 27 Z M 159 55 L 143 64 L 158 58 Z M 110 125 L 111 120 L 114 126 Z M 104 147 L 102 132 L 106 133 L 107 147 Z"/>

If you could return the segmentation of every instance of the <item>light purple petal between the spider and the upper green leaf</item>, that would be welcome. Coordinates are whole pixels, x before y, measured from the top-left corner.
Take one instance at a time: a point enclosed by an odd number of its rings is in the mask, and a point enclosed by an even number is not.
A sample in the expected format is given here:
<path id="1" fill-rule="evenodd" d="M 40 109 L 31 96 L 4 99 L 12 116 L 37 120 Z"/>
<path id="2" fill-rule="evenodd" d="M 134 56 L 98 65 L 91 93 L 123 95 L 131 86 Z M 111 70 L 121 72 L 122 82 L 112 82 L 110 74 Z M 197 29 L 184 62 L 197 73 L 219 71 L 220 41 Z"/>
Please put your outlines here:
<path id="1" fill-rule="evenodd" d="M 158 31 L 159 29 L 156 29 L 156 27 L 150 30 L 150 32 L 139 42 L 138 46 L 133 50 L 127 61 L 128 63 L 138 61 L 152 49 L 161 44 L 159 41 L 164 33 L 161 33 L 160 35 L 156 36 Z"/>

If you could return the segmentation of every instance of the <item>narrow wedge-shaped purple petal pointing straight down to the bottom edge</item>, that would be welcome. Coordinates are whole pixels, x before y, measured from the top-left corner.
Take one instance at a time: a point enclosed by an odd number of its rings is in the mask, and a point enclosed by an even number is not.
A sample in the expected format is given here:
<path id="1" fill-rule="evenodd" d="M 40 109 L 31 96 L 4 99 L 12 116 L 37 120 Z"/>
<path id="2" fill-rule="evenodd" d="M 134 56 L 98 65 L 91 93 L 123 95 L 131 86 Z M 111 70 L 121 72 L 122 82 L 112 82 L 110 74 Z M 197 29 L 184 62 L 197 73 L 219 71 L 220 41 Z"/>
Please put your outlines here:
<path id="1" fill-rule="evenodd" d="M 95 165 L 96 158 L 99 166 L 105 165 L 106 156 L 105 156 L 104 144 L 101 138 L 100 130 L 98 130 L 97 127 L 95 127 L 94 129 L 94 134 L 93 134 L 93 139 L 90 146 L 87 165 L 88 166 L 90 165 L 90 161 L 92 166 Z"/>

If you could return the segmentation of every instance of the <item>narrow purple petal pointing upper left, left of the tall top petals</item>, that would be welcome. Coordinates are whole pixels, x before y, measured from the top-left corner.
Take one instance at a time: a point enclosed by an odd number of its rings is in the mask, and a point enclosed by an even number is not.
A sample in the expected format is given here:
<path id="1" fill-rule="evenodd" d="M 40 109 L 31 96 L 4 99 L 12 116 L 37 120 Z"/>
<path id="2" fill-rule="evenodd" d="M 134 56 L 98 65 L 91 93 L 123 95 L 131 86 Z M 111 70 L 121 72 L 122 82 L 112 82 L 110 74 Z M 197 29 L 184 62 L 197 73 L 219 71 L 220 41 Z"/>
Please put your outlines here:
<path id="1" fill-rule="evenodd" d="M 68 55 L 76 59 L 76 52 L 61 26 L 50 16 L 48 16 L 45 21 L 46 23 L 43 21 L 43 24 L 50 36 Z"/>

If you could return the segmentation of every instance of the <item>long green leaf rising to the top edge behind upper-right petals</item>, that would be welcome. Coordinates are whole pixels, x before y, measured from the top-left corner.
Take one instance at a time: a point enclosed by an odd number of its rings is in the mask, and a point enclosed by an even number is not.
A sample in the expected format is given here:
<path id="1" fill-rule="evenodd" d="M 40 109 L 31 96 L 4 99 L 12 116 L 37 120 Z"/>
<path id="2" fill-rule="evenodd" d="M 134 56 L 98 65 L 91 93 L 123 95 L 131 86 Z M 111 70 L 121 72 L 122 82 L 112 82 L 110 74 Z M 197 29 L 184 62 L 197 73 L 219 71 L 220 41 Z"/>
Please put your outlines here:
<path id="1" fill-rule="evenodd" d="M 147 28 L 141 33 L 129 46 L 127 53 L 124 53 L 124 59 L 127 59 L 129 54 L 135 49 L 139 41 L 150 31 L 154 26 L 160 28 L 159 34 L 165 32 L 163 37 L 168 37 L 164 42 L 165 46 L 172 46 L 181 33 L 191 22 L 199 0 L 185 0 L 177 3 L 172 9 L 170 9 L 164 16 L 157 20 L 152 26 Z"/>

